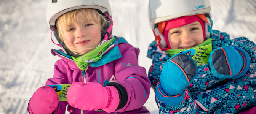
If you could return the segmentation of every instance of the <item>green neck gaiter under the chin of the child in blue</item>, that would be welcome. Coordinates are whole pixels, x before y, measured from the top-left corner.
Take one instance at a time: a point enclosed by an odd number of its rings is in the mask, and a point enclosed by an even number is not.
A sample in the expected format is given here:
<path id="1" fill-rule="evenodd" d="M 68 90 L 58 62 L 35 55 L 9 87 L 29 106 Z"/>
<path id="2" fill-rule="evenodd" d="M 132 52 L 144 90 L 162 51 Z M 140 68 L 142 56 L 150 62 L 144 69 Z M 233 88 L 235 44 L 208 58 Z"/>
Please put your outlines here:
<path id="1" fill-rule="evenodd" d="M 211 38 L 208 38 L 206 39 L 202 44 L 198 45 L 198 46 L 195 46 L 195 47 L 201 47 L 201 46 L 206 46 L 206 45 L 209 45 L 209 44 L 213 44 L 212 43 L 212 40 Z M 191 47 L 191 48 L 187 48 L 187 49 L 168 49 L 166 50 L 166 52 L 168 53 L 168 55 L 173 56 L 175 54 L 178 54 L 179 52 L 181 51 L 184 51 L 184 50 L 188 50 L 188 49 L 192 49 L 192 48 L 195 48 L 195 47 Z"/>

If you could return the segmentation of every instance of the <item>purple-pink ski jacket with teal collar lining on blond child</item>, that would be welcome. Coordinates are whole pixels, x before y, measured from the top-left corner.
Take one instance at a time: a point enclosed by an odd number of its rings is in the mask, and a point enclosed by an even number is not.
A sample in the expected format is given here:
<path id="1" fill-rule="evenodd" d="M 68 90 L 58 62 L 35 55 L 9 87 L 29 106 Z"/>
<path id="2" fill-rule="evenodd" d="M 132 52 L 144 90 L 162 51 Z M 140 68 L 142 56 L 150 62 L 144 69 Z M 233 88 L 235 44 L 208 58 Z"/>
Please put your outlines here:
<path id="1" fill-rule="evenodd" d="M 80 70 L 69 55 L 52 49 L 52 54 L 61 59 L 54 65 L 53 78 L 48 79 L 45 85 L 97 82 L 102 86 L 114 86 L 118 90 L 120 103 L 112 114 L 149 114 L 143 105 L 149 98 L 150 81 L 145 68 L 138 65 L 139 49 L 128 44 L 124 38 L 115 37 L 113 44 L 115 46 L 110 51 L 91 63 L 85 71 Z M 67 101 L 59 101 L 54 114 L 64 114 L 67 105 Z M 67 111 L 70 114 L 106 113 L 81 111 L 70 105 Z"/>

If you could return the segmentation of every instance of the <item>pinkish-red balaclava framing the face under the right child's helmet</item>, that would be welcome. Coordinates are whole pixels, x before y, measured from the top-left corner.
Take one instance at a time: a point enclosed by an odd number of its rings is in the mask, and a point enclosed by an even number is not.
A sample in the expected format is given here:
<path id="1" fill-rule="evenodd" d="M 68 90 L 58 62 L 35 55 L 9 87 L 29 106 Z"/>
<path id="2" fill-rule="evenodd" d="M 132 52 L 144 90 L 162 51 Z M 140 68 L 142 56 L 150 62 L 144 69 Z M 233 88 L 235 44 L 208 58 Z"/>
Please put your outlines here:
<path id="1" fill-rule="evenodd" d="M 192 16 L 182 16 L 176 19 L 171 19 L 165 22 L 165 28 L 163 30 L 163 35 L 165 36 L 165 41 L 169 49 L 171 49 L 169 41 L 168 41 L 168 32 L 171 28 L 181 27 L 193 22 L 200 22 L 203 29 L 203 38 L 205 40 L 205 24 L 202 19 L 200 19 L 197 15 Z"/>

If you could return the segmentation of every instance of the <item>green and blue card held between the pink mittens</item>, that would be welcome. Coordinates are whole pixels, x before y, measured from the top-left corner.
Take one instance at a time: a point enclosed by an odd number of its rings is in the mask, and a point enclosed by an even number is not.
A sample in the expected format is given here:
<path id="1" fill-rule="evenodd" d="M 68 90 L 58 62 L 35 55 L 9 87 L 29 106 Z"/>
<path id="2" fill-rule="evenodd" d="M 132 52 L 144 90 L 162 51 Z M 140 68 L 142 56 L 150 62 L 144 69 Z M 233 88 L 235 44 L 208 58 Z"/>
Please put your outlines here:
<path id="1" fill-rule="evenodd" d="M 67 101 L 67 89 L 71 84 L 56 84 L 56 85 L 46 85 L 52 87 L 57 95 L 59 96 L 59 101 Z"/>

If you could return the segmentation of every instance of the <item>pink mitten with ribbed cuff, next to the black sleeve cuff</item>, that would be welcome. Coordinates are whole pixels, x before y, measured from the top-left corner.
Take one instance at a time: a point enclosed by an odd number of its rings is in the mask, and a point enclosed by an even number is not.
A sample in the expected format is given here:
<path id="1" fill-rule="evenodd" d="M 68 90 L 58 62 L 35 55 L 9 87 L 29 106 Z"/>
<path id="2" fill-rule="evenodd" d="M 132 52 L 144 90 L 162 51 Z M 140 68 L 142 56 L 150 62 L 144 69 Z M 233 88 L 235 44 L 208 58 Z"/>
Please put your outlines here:
<path id="1" fill-rule="evenodd" d="M 103 87 L 93 82 L 74 82 L 67 90 L 69 105 L 82 110 L 102 109 L 113 112 L 119 105 L 119 93 L 114 86 Z"/>

